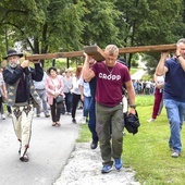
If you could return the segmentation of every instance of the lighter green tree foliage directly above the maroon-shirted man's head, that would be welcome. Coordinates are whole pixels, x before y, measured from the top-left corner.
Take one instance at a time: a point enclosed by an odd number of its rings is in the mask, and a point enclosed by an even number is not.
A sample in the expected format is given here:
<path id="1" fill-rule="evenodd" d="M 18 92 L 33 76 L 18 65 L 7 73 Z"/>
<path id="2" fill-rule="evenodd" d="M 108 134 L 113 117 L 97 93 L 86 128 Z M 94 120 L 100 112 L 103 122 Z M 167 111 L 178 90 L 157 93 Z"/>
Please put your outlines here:
<path id="1" fill-rule="evenodd" d="M 115 7 L 115 0 L 83 0 L 85 14 L 82 18 L 84 30 L 82 44 L 98 45 L 104 48 L 108 44 L 118 44 L 119 27 L 116 21 L 121 12 Z"/>

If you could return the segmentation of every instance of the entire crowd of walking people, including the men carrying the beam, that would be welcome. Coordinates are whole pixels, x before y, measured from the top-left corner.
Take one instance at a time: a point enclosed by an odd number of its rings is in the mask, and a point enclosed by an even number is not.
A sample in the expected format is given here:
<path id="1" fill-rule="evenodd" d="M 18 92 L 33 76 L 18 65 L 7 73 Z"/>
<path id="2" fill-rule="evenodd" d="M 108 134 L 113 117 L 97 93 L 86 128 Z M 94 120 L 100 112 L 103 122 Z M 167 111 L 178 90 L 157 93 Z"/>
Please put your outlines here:
<path id="1" fill-rule="evenodd" d="M 119 48 L 108 45 L 104 60 L 95 61 L 84 53 L 83 66 L 73 73 L 67 69 L 61 73 L 51 66 L 44 71 L 39 61 L 20 62 L 23 53 L 11 49 L 4 59 L 8 67 L 0 73 L 0 109 L 3 98 L 12 115 L 14 131 L 20 141 L 20 160 L 27 162 L 32 121 L 36 116 L 51 118 L 52 126 L 60 126 L 61 114 L 70 115 L 76 124 L 76 109 L 83 102 L 83 116 L 91 132 L 90 148 L 98 144 L 102 158 L 101 173 L 109 173 L 112 168 L 122 168 L 123 151 L 123 87 L 127 94 L 127 113 L 136 114 L 135 95 L 155 95 L 151 119 L 157 119 L 164 106 L 170 124 L 169 147 L 172 157 L 182 151 L 181 128 L 185 118 L 185 39 L 176 44 L 172 58 L 163 51 L 156 69 L 152 82 L 134 81 L 128 67 L 118 61 Z M 60 98 L 59 98 L 60 97 Z M 162 103 L 163 102 L 163 103 Z M 50 112 L 49 112 L 50 109 Z"/>

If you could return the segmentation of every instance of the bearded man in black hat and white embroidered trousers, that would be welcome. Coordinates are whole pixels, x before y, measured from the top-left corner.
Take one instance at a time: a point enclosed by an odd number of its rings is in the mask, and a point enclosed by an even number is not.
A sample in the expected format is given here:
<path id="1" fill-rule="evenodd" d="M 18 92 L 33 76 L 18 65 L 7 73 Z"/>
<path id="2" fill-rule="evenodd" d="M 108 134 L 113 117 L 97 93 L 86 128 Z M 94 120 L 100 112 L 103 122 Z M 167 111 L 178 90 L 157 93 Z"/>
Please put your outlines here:
<path id="1" fill-rule="evenodd" d="M 7 104 L 12 109 L 13 126 L 21 144 L 20 160 L 27 162 L 27 149 L 29 147 L 34 104 L 40 103 L 38 94 L 34 88 L 33 81 L 40 82 L 44 70 L 39 62 L 35 61 L 35 69 L 29 67 L 29 61 L 20 63 L 23 53 L 10 49 L 7 57 L 8 67 L 3 71 L 3 78 L 8 87 Z"/>

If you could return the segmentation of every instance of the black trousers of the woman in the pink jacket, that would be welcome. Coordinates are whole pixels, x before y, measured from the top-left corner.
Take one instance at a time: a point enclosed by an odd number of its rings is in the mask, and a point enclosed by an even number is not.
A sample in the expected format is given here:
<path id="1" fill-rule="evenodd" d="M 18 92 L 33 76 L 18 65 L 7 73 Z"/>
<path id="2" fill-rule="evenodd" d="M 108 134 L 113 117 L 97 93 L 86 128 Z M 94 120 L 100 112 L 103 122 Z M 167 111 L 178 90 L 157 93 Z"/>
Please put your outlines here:
<path id="1" fill-rule="evenodd" d="M 55 99 L 53 99 L 51 108 L 51 118 L 52 122 L 59 122 L 60 121 L 60 115 L 61 115 L 61 108 L 62 108 L 62 102 L 57 103 Z"/>

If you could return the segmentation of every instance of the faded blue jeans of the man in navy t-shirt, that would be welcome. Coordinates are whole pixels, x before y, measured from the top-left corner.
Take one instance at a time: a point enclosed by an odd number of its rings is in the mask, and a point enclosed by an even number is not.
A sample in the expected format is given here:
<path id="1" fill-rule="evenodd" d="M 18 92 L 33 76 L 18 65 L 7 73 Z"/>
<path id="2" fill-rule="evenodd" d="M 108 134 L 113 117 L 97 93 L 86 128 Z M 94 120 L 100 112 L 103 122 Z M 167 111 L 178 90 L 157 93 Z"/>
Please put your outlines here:
<path id="1" fill-rule="evenodd" d="M 166 109 L 171 132 L 169 147 L 181 152 L 181 128 L 184 122 L 185 102 L 175 101 L 171 99 L 164 99 L 163 102 Z"/>

